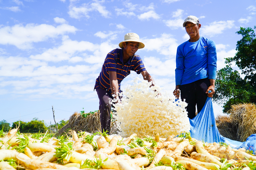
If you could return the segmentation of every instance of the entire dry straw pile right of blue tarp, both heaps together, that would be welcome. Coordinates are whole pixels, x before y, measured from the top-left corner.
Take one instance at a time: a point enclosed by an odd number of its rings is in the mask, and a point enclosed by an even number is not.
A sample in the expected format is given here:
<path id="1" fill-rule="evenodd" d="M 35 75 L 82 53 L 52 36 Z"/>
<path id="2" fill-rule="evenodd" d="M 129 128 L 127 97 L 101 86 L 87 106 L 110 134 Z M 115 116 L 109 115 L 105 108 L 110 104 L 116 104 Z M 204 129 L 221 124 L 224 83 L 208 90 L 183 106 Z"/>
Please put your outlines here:
<path id="1" fill-rule="evenodd" d="M 256 106 L 254 104 L 232 105 L 229 116 L 216 117 L 219 133 L 236 141 L 246 141 L 256 133 Z"/>

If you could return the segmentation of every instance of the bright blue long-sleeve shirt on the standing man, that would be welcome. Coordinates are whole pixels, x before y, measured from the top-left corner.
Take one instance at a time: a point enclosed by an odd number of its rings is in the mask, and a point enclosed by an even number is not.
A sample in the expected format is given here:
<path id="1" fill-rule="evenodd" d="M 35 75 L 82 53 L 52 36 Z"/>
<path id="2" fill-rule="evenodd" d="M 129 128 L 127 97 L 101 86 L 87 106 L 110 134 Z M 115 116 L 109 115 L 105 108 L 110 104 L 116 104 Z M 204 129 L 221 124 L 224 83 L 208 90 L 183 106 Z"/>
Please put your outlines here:
<path id="1" fill-rule="evenodd" d="M 196 42 L 184 42 L 177 48 L 176 86 L 207 77 L 216 80 L 216 62 L 217 55 L 214 41 L 200 37 Z"/>

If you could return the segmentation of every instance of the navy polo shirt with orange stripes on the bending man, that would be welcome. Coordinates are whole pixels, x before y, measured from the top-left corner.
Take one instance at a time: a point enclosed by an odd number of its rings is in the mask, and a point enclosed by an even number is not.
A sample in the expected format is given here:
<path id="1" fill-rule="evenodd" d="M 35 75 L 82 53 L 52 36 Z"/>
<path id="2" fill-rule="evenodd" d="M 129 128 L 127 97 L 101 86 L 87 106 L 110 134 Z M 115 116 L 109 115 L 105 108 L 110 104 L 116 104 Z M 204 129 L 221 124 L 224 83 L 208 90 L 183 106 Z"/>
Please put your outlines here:
<path id="1" fill-rule="evenodd" d="M 94 89 L 102 88 L 108 90 L 110 93 L 110 80 L 108 71 L 115 71 L 116 77 L 119 85 L 120 92 L 120 83 L 121 81 L 131 73 L 131 70 L 140 74 L 142 71 L 145 71 L 145 66 L 142 62 L 140 56 L 134 54 L 133 57 L 130 57 L 125 65 L 123 64 L 123 49 L 116 48 L 110 53 L 107 54 L 107 57 L 104 61 L 104 64 L 101 69 L 99 77 L 96 79 Z"/>

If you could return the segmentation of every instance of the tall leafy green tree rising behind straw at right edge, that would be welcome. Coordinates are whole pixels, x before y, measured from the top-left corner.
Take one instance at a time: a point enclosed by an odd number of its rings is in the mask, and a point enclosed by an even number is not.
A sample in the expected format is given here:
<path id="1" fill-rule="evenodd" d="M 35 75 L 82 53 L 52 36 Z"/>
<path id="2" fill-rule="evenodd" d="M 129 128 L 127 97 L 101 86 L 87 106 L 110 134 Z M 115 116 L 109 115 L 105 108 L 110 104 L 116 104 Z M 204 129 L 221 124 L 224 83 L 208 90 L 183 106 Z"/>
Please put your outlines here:
<path id="1" fill-rule="evenodd" d="M 236 33 L 242 35 L 236 44 L 237 53 L 226 58 L 229 65 L 217 71 L 216 94 L 213 96 L 218 104 L 224 103 L 224 112 L 233 104 L 256 103 L 256 36 L 250 27 L 241 27 Z M 233 62 L 241 69 L 244 78 L 230 67 Z"/>

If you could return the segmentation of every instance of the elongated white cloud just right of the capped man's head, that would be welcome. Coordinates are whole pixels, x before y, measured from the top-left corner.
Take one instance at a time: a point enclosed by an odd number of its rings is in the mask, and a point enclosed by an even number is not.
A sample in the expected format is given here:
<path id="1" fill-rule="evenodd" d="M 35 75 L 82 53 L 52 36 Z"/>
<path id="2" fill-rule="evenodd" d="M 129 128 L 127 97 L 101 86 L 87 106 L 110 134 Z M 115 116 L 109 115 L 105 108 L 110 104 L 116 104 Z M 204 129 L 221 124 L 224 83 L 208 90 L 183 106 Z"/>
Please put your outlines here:
<path id="1" fill-rule="evenodd" d="M 231 29 L 235 26 L 235 21 L 214 21 L 213 23 L 210 23 L 208 26 L 202 26 L 201 27 L 201 33 L 202 35 L 207 36 L 215 36 L 218 34 L 223 33 L 226 29 Z M 200 34 L 201 35 L 201 34 Z"/>

